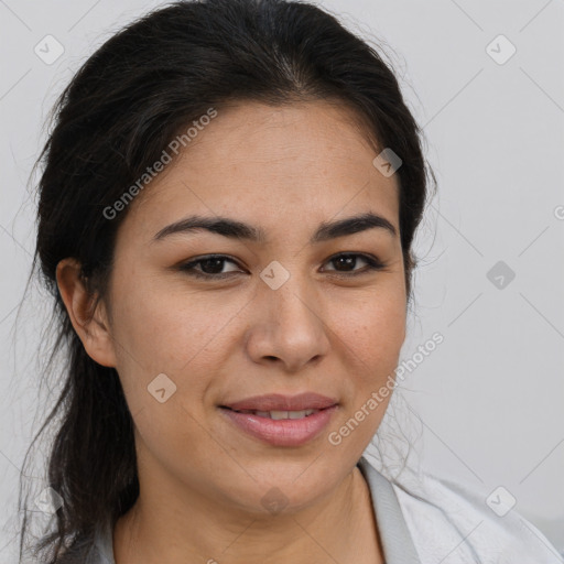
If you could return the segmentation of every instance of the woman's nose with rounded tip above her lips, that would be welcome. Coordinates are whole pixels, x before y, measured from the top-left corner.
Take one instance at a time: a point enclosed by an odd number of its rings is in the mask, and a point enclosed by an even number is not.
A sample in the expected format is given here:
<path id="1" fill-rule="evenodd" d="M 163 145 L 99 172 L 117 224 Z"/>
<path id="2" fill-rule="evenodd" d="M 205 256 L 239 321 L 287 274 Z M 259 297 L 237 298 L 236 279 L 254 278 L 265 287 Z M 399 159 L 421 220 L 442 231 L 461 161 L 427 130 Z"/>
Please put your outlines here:
<path id="1" fill-rule="evenodd" d="M 303 278 L 291 275 L 278 290 L 268 284 L 254 297 L 247 351 L 254 362 L 297 372 L 329 350 L 323 303 Z"/>

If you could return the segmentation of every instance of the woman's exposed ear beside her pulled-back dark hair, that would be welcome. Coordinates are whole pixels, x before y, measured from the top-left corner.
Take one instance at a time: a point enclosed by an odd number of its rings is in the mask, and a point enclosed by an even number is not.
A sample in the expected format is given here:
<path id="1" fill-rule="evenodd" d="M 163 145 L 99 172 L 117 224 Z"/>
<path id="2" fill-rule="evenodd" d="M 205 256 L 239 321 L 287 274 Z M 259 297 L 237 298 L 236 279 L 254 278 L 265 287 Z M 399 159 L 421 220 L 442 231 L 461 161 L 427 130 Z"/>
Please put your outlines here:
<path id="1" fill-rule="evenodd" d="M 80 276 L 80 263 L 64 259 L 57 264 L 57 285 L 70 323 L 88 356 L 106 367 L 116 367 L 116 349 L 102 301 L 95 303 Z M 94 307 L 96 307 L 95 311 Z"/>

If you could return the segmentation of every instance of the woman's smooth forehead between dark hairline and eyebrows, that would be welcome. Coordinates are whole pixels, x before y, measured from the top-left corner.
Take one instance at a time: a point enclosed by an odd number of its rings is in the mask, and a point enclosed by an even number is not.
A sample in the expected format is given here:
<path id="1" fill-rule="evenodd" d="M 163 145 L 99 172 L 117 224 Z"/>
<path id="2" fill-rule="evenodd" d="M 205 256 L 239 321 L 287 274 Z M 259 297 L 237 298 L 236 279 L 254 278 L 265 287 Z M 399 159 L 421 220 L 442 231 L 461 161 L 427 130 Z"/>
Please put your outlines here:
<path id="1" fill-rule="evenodd" d="M 220 107 L 138 196 L 126 223 L 153 229 L 198 213 L 288 225 L 370 209 L 398 226 L 399 178 L 372 164 L 378 152 L 343 105 Z"/>

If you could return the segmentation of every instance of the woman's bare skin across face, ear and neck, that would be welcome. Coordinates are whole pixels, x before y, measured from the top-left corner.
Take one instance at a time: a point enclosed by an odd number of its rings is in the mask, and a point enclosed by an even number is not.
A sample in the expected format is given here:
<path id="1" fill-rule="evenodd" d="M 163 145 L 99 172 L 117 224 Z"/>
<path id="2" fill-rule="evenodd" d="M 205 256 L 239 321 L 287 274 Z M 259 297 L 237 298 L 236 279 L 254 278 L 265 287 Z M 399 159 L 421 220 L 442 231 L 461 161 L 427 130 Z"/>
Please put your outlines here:
<path id="1" fill-rule="evenodd" d="M 135 424 L 140 497 L 115 528 L 117 564 L 383 562 L 356 463 L 389 397 L 341 444 L 328 442 L 393 375 L 405 338 L 398 178 L 372 165 L 377 154 L 343 105 L 218 108 L 129 206 L 91 318 L 94 296 L 76 262 L 59 263 L 73 325 L 93 359 L 116 367 Z M 321 223 L 367 212 L 398 236 L 376 228 L 308 242 Z M 153 240 L 192 214 L 260 226 L 268 240 L 207 230 Z M 329 260 L 341 252 L 376 256 L 384 268 Z M 230 260 L 207 272 L 231 278 L 204 281 L 174 268 L 210 253 Z M 278 290 L 259 276 L 273 260 L 291 274 Z M 148 392 L 160 373 L 176 386 L 164 403 Z M 300 447 L 248 436 L 218 408 L 303 391 L 339 408 Z M 273 487 L 288 503 L 278 514 L 261 503 Z"/>

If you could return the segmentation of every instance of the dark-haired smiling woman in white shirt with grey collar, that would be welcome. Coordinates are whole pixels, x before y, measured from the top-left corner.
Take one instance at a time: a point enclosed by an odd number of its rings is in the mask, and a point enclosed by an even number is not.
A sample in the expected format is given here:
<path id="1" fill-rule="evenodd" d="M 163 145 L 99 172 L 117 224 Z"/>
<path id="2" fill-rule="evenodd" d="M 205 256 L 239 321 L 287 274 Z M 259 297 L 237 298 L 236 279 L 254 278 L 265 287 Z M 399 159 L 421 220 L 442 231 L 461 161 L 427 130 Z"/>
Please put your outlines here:
<path id="1" fill-rule="evenodd" d="M 68 367 L 41 562 L 554 562 L 513 511 L 364 456 L 405 338 L 419 134 L 378 53 L 306 3 L 177 2 L 86 62 L 42 155 Z"/>

